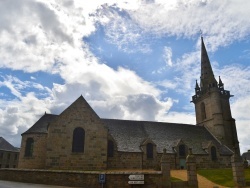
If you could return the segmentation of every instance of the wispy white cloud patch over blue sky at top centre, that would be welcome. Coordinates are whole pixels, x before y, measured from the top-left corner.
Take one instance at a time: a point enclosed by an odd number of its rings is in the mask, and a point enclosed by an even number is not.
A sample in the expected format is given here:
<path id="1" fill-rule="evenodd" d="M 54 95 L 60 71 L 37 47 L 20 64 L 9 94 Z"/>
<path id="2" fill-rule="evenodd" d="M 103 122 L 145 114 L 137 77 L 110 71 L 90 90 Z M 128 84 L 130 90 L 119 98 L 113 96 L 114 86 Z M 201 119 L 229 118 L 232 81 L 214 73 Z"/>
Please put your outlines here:
<path id="1" fill-rule="evenodd" d="M 104 26 L 105 39 L 117 45 L 118 49 L 127 53 L 150 53 L 152 51 L 145 41 L 144 30 L 131 20 L 125 11 L 121 13 L 117 8 L 103 6 L 96 16 L 98 16 L 97 22 Z"/>

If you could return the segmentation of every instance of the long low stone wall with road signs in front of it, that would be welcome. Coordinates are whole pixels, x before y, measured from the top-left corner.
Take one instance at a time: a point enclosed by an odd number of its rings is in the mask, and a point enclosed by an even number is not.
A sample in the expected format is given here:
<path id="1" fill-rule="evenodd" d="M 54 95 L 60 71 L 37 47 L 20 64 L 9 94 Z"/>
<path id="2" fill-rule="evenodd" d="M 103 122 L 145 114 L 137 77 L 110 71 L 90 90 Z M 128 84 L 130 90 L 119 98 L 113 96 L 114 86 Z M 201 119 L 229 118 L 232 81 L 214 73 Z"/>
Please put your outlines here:
<path id="1" fill-rule="evenodd" d="M 71 187 L 102 187 L 99 174 L 106 174 L 104 188 L 131 188 L 129 175 L 144 174 L 144 185 L 133 185 L 133 188 L 160 188 L 162 173 L 160 171 L 61 171 L 61 170 L 30 170 L 30 169 L 0 169 L 0 179 L 26 183 L 61 185 Z"/>

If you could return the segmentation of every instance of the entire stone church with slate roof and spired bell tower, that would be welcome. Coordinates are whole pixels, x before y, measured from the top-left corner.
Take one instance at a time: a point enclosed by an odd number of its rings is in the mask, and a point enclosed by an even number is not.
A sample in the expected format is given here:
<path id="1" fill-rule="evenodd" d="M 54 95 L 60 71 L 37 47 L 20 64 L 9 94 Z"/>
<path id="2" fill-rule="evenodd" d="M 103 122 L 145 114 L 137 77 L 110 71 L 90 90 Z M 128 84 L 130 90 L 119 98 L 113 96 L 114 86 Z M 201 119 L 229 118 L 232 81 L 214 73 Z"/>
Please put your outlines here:
<path id="1" fill-rule="evenodd" d="M 239 153 L 230 92 L 214 77 L 201 37 L 200 84 L 192 102 L 196 125 L 100 118 L 80 96 L 61 114 L 44 114 L 22 134 L 18 168 L 60 170 L 159 169 L 166 148 L 172 169 L 230 167 Z"/>

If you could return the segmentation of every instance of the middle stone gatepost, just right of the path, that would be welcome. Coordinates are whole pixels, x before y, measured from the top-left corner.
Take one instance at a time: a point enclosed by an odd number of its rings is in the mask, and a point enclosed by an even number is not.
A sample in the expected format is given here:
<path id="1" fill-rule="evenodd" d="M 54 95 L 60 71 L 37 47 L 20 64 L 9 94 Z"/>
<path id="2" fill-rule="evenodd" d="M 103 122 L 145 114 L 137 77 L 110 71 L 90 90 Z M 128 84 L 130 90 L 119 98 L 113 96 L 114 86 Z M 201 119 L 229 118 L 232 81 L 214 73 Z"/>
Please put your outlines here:
<path id="1" fill-rule="evenodd" d="M 186 164 L 187 164 L 188 187 L 198 188 L 196 159 L 192 153 L 192 148 L 189 148 Z"/>

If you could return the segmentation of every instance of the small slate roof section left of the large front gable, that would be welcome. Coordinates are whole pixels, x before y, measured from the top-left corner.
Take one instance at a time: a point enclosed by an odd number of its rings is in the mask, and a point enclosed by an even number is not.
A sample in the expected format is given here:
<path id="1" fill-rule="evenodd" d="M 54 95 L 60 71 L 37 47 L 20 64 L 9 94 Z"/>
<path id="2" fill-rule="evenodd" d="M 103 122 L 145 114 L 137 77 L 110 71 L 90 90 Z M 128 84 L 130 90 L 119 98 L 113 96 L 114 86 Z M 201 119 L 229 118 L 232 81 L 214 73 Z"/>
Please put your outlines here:
<path id="1" fill-rule="evenodd" d="M 57 116 L 58 115 L 54 114 L 44 114 L 32 127 L 30 127 L 23 134 L 48 133 L 48 124 L 52 122 Z"/>

